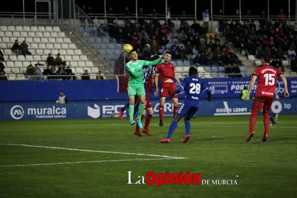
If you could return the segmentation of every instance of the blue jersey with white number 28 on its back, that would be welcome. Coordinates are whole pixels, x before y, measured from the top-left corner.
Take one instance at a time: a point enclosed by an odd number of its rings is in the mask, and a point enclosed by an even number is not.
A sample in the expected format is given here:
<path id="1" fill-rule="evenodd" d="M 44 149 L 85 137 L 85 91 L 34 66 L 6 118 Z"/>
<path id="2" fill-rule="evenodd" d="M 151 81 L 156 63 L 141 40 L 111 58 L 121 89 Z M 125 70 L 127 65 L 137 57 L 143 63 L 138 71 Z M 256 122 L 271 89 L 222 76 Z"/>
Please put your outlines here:
<path id="1" fill-rule="evenodd" d="M 181 80 L 181 85 L 184 89 L 186 98 L 185 105 L 199 107 L 200 93 L 208 89 L 207 85 L 197 76 L 189 76 Z"/>

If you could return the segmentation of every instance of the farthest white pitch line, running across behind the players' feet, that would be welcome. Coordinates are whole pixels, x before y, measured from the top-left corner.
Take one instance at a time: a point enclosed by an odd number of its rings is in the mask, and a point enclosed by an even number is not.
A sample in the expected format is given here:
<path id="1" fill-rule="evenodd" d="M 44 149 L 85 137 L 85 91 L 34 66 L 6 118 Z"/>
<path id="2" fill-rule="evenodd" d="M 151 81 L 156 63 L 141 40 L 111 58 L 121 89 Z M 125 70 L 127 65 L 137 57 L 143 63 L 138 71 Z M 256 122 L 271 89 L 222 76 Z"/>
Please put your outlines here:
<path id="1" fill-rule="evenodd" d="M 89 125 L 128 125 L 128 124 L 74 124 L 71 126 L 89 126 Z M 48 126 L 66 126 L 66 125 L 23 125 L 23 126 L 13 126 L 13 127 L 48 127 Z M 154 125 L 154 124 L 150 124 L 150 126 L 159 126 L 159 125 Z M 164 125 L 164 126 L 170 126 L 170 125 Z M 193 127 L 225 127 L 225 128 L 249 128 L 249 126 L 214 126 L 214 125 L 191 125 Z M 263 128 L 260 126 L 255 126 L 255 128 Z M 297 128 L 297 127 L 280 127 L 277 126 L 276 128 Z"/>

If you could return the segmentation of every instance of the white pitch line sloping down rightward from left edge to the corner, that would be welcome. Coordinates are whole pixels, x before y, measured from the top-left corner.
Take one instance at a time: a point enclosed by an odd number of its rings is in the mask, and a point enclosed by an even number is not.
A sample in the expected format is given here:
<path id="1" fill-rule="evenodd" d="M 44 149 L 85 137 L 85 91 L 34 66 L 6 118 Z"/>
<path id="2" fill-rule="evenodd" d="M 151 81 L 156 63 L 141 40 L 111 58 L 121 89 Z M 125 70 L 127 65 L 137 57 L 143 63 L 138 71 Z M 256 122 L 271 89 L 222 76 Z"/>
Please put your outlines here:
<path id="1" fill-rule="evenodd" d="M 36 146 L 36 145 L 27 145 L 27 144 L 1 144 L 1 143 L 0 143 L 0 145 L 13 145 L 13 146 L 25 146 L 25 147 L 39 147 L 39 148 L 63 149 L 63 150 L 75 150 L 75 151 L 98 152 L 98 153 L 114 153 L 114 154 L 124 154 L 124 155 L 143 155 L 143 156 L 161 157 L 161 158 L 172 158 L 172 159 L 186 159 L 186 158 L 184 158 L 184 157 L 173 157 L 173 156 L 167 156 L 167 155 L 151 155 L 151 154 L 142 154 L 142 153 L 123 153 L 123 152 L 100 151 L 100 150 L 83 150 L 83 149 L 60 148 L 60 147 L 45 147 L 45 146 Z"/>

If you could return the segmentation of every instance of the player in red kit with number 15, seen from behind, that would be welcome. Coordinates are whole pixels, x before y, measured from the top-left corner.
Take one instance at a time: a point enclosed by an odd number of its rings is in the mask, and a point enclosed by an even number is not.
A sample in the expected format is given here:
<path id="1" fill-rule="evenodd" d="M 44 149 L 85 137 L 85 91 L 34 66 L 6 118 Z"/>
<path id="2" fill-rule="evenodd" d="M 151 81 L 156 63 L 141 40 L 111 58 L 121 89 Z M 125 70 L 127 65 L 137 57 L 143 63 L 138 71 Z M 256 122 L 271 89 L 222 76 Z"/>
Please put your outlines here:
<path id="1" fill-rule="evenodd" d="M 279 69 L 275 67 L 271 67 L 269 62 L 271 61 L 271 56 L 268 54 L 264 54 L 261 62 L 263 66 L 258 67 L 253 73 L 253 77 L 251 82 L 249 83 L 249 91 L 245 97 L 245 100 L 250 96 L 252 87 L 255 84 L 256 79 L 258 78 L 258 85 L 256 90 L 256 96 L 252 106 L 252 114 L 249 118 L 249 135 L 247 136 L 246 142 L 250 142 L 252 136 L 255 135 L 254 127 L 257 121 L 257 113 L 259 110 L 263 109 L 264 115 L 264 136 L 262 138 L 262 142 L 266 142 L 268 139 L 268 128 L 269 128 L 269 110 L 271 107 L 274 89 L 277 84 L 277 77 L 282 79 L 285 91 L 285 98 L 289 97 L 289 92 L 287 88 L 287 79 L 282 74 Z"/>

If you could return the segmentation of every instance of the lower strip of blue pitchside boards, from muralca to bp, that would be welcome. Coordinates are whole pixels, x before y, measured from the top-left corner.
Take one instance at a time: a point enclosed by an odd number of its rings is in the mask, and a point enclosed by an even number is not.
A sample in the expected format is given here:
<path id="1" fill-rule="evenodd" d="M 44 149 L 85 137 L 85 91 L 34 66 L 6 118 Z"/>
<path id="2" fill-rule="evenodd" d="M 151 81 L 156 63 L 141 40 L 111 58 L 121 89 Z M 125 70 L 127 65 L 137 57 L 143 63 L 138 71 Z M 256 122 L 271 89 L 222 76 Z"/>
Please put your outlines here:
<path id="1" fill-rule="evenodd" d="M 179 100 L 181 106 L 183 100 Z M 211 102 L 200 101 L 200 108 L 196 115 L 223 116 L 223 115 L 249 115 L 253 100 L 240 99 L 213 99 Z M 74 104 L 13 104 L 2 105 L 0 112 L 2 120 L 39 120 L 39 119 L 81 119 L 81 118 L 110 118 L 119 117 L 119 109 L 125 105 L 125 101 L 110 101 L 98 103 L 74 103 Z M 154 117 L 159 117 L 159 100 L 152 100 Z M 1 110 L 1 105 L 0 105 Z M 282 98 L 274 100 L 271 111 L 277 114 L 297 114 L 296 98 Z M 173 117 L 173 103 L 166 100 L 164 116 Z M 124 113 L 128 118 L 128 110 Z"/>

